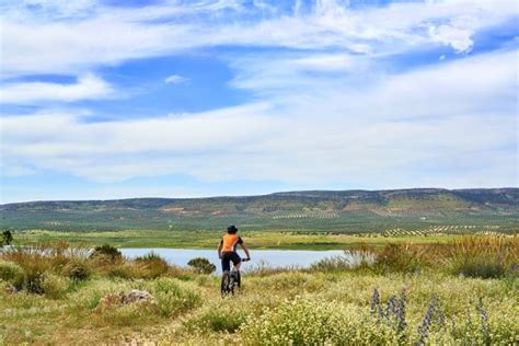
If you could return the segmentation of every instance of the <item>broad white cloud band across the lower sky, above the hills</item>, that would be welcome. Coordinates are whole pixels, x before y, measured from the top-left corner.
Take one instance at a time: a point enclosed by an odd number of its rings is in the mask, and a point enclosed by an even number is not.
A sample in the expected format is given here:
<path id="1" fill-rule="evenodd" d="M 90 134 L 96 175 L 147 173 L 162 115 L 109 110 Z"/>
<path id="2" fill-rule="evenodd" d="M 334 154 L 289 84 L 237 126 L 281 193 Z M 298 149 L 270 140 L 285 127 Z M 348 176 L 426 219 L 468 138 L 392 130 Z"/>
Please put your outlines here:
<path id="1" fill-rule="evenodd" d="M 9 116 L 1 119 L 2 164 L 105 182 L 176 173 L 316 186 L 463 178 L 463 186 L 514 186 L 515 64 L 515 53 L 503 51 L 382 78 L 357 93 L 323 83 L 272 104 L 153 119 Z"/>

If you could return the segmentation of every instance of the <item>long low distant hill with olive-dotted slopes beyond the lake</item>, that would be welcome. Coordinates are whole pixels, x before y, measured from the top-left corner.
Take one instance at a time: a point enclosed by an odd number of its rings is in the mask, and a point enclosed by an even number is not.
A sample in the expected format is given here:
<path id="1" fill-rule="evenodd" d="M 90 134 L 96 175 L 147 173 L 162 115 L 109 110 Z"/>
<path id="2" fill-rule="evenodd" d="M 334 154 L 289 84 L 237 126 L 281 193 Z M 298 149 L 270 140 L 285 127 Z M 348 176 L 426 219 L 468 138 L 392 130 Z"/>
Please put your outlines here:
<path id="1" fill-rule="evenodd" d="M 2 228 L 369 229 L 385 224 L 519 224 L 519 188 L 304 191 L 263 196 L 30 201 L 0 206 Z M 449 224 L 450 224 L 449 223 Z"/>

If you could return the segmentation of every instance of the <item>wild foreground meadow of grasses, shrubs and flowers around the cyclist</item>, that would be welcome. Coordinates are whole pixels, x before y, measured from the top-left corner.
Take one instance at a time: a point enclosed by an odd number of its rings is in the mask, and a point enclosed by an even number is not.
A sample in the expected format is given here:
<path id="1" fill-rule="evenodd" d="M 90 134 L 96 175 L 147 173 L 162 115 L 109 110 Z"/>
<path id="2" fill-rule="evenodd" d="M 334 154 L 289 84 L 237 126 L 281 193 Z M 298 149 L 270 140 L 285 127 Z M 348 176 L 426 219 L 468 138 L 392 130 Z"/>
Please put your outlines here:
<path id="1" fill-rule="evenodd" d="M 387 240 L 387 239 L 385 239 Z M 104 249 L 108 249 L 104 246 Z M 0 254 L 2 344 L 514 345 L 519 238 L 455 237 L 219 277 L 57 243 Z M 109 251 L 112 253 L 112 251 Z M 145 299 L 129 301 L 134 290 Z M 149 295 L 149 296 L 148 296 Z"/>

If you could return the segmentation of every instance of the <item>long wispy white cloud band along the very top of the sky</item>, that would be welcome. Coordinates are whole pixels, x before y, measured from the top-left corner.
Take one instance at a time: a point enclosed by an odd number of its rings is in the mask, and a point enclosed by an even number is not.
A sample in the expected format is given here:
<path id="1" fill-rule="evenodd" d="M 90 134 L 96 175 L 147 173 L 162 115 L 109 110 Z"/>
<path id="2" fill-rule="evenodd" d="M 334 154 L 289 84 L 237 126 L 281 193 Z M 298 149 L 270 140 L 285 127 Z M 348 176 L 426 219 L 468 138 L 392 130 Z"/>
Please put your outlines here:
<path id="1" fill-rule="evenodd" d="M 274 11 L 261 20 L 252 20 L 254 10 L 237 1 L 164 2 L 139 9 L 85 3 L 81 11 L 61 3 L 65 10 L 57 11 L 58 18 L 71 18 L 56 21 L 50 10 L 35 19 L 11 2 L 1 16 L 4 77 L 84 73 L 100 65 L 217 45 L 334 47 L 381 55 L 439 43 L 464 51 L 474 33 L 519 13 L 514 0 L 427 1 L 360 10 L 318 1 L 311 11 Z"/>

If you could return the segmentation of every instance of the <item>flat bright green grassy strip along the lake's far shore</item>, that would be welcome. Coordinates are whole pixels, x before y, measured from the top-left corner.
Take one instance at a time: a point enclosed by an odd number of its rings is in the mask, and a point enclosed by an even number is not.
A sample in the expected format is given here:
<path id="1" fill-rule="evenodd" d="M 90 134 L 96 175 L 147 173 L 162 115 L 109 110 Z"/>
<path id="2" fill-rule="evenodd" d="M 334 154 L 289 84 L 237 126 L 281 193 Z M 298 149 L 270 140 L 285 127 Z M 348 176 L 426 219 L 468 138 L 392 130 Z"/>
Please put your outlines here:
<path id="1" fill-rule="evenodd" d="M 84 243 L 116 247 L 176 247 L 215 249 L 223 233 L 209 231 L 112 231 L 112 232 L 57 232 L 26 231 L 15 234 L 18 244 L 38 242 Z M 323 232 L 301 233 L 292 231 L 249 231 L 240 235 L 251 249 L 285 250 L 343 250 L 359 245 L 384 245 L 391 243 L 446 243 L 461 235 L 392 235 L 381 234 L 327 234 Z"/>

